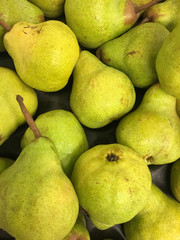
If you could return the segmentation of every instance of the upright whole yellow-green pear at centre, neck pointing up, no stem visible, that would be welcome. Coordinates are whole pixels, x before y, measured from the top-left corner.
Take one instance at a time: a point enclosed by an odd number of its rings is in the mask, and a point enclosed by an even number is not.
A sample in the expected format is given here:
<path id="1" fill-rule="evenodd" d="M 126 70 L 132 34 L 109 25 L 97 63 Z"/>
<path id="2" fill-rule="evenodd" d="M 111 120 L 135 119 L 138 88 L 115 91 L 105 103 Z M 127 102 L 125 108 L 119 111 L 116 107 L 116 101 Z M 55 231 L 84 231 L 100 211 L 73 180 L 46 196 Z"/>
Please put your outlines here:
<path id="1" fill-rule="evenodd" d="M 103 127 L 129 112 L 135 103 L 130 79 L 84 50 L 73 72 L 70 106 L 89 128 Z"/>

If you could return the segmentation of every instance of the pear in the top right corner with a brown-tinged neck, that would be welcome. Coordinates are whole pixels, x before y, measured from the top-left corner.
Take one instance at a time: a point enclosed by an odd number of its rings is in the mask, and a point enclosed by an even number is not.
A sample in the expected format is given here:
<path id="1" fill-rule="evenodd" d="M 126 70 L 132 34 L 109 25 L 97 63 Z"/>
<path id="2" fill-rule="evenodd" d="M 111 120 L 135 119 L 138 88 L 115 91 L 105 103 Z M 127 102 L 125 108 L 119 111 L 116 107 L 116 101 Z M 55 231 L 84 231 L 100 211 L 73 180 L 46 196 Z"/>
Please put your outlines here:
<path id="1" fill-rule="evenodd" d="M 157 22 L 172 31 L 180 23 L 180 1 L 166 0 L 148 8 L 142 21 Z"/>

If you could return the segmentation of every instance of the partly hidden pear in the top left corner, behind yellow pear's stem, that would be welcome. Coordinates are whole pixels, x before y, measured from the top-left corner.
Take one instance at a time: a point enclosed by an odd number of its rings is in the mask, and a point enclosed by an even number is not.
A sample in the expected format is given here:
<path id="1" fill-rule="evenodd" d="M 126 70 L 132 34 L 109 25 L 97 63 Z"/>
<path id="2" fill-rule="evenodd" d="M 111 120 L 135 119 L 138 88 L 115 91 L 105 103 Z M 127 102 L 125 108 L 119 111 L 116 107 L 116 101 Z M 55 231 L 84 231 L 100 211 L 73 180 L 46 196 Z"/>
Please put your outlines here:
<path id="1" fill-rule="evenodd" d="M 12 27 L 20 21 L 40 23 L 44 21 L 44 13 L 40 8 L 27 0 L 1 0 L 0 22 L 3 21 Z M 3 37 L 6 29 L 0 25 L 0 52 L 5 51 Z"/>

